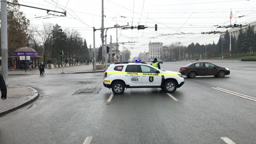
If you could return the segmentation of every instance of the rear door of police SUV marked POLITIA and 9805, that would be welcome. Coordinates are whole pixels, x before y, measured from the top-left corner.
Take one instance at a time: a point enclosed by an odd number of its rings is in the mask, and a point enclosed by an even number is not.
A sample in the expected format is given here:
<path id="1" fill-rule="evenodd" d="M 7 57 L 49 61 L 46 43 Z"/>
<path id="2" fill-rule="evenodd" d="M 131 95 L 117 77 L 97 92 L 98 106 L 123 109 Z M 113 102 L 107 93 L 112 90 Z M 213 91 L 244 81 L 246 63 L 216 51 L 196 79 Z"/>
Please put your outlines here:
<path id="1" fill-rule="evenodd" d="M 130 86 L 141 86 L 142 79 L 139 73 L 138 65 L 127 65 L 124 71 L 124 79 Z"/>

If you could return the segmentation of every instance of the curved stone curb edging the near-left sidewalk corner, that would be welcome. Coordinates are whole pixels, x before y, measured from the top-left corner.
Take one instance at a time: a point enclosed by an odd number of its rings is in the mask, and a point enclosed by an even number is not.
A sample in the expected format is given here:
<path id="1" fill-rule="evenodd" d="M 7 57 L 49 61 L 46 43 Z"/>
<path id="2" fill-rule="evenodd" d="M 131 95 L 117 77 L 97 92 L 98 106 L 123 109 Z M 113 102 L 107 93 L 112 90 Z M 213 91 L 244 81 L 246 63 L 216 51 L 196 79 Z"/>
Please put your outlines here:
<path id="1" fill-rule="evenodd" d="M 27 86 L 27 87 L 28 87 L 28 86 Z M 29 88 L 31 91 L 34 92 L 34 95 L 28 96 L 28 97 L 27 97 L 28 100 L 26 100 L 26 102 L 22 103 L 21 105 L 12 106 L 11 108 L 9 108 L 9 109 L 7 109 L 7 110 L 5 110 L 5 111 L 0 112 L 0 117 L 3 116 L 3 115 L 5 115 L 5 114 L 7 114 L 7 113 L 9 113 L 9 112 L 15 111 L 15 110 L 17 110 L 17 109 L 19 109 L 19 108 L 21 108 L 21 107 L 23 107 L 23 106 L 26 106 L 27 104 L 29 104 L 29 103 L 35 101 L 35 100 L 38 98 L 38 96 L 39 96 L 38 91 L 35 90 L 35 89 L 33 89 L 32 87 L 28 87 L 28 88 Z"/>

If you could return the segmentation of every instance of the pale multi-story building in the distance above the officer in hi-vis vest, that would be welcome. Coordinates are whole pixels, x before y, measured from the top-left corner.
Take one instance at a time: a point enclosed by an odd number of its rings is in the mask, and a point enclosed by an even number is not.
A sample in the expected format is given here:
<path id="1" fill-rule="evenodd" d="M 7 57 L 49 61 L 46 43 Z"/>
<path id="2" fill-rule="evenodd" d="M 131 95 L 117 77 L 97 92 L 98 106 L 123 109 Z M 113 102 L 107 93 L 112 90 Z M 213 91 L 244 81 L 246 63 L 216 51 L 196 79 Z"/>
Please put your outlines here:
<path id="1" fill-rule="evenodd" d="M 161 42 L 154 42 L 151 43 L 149 41 L 149 60 L 152 61 L 154 58 L 157 58 L 158 60 L 162 60 L 162 45 Z"/>

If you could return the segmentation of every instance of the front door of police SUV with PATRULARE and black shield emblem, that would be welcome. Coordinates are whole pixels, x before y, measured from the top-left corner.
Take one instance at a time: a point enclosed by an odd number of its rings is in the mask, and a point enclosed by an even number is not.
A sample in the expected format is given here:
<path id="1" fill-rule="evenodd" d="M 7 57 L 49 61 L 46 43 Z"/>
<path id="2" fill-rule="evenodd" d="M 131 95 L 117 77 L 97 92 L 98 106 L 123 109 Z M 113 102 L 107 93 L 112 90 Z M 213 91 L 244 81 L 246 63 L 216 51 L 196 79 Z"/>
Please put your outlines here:
<path id="1" fill-rule="evenodd" d="M 147 65 L 140 65 L 142 71 L 142 86 L 160 86 L 161 74 L 156 73 L 156 69 Z"/>

